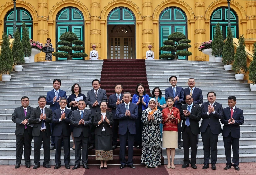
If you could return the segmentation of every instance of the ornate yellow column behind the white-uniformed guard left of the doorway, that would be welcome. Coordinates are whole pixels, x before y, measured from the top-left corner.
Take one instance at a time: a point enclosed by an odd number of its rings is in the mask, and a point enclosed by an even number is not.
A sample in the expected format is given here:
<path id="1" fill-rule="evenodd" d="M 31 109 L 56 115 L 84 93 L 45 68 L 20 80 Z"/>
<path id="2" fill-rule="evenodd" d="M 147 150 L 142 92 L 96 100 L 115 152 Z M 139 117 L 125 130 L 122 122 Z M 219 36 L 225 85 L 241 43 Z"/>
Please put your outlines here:
<path id="1" fill-rule="evenodd" d="M 92 45 L 96 45 L 96 50 L 99 53 L 99 59 L 102 57 L 101 53 L 101 8 L 100 0 L 91 0 L 91 30 L 90 30 L 90 49 Z"/>

